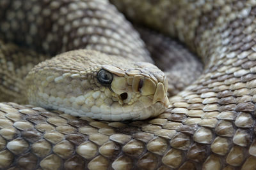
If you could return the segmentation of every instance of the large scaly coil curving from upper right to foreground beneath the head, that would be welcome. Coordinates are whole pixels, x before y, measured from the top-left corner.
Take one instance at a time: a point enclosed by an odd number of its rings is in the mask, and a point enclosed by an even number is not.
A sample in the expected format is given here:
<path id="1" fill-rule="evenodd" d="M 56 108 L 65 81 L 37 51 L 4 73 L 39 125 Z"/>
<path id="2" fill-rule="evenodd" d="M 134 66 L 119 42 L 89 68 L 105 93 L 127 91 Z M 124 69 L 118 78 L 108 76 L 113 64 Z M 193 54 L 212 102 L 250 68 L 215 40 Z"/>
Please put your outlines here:
<path id="1" fill-rule="evenodd" d="M 256 1 L 120 2 L 202 57 L 202 76 L 165 113 L 140 122 L 1 103 L 0 167 L 255 169 Z"/>

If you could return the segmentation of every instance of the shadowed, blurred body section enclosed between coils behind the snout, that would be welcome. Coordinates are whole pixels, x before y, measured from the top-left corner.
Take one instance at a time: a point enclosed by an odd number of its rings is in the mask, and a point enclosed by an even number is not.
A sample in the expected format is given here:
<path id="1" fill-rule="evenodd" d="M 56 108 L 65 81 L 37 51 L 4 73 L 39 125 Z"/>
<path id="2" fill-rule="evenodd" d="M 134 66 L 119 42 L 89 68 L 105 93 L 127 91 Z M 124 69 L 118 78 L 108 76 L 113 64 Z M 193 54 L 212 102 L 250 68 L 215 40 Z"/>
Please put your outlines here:
<path id="1" fill-rule="evenodd" d="M 168 94 L 174 96 L 202 74 L 202 63 L 177 41 L 156 31 L 136 27 L 152 59 L 168 78 Z"/>

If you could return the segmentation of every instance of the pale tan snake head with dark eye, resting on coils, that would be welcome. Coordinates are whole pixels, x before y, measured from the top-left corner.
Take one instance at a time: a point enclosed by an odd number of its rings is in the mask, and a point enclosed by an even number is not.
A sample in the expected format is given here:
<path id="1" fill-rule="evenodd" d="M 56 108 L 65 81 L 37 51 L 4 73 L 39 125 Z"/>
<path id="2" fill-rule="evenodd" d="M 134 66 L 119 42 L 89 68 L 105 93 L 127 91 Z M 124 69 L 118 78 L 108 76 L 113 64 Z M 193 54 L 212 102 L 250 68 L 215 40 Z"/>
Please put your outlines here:
<path id="1" fill-rule="evenodd" d="M 26 77 L 30 104 L 100 120 L 143 120 L 168 107 L 167 78 L 153 64 L 90 50 L 62 53 Z"/>

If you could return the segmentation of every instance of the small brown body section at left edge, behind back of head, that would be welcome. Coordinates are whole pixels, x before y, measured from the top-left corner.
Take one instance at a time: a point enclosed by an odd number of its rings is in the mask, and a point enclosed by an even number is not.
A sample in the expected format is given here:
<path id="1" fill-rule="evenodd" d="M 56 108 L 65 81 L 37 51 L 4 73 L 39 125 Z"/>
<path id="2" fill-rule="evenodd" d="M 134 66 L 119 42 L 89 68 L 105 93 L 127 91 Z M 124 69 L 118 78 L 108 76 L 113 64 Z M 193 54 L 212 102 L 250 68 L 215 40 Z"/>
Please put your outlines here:
<path id="1" fill-rule="evenodd" d="M 0 40 L 0 101 L 26 103 L 23 79 L 35 64 L 48 58 L 47 55 Z"/>

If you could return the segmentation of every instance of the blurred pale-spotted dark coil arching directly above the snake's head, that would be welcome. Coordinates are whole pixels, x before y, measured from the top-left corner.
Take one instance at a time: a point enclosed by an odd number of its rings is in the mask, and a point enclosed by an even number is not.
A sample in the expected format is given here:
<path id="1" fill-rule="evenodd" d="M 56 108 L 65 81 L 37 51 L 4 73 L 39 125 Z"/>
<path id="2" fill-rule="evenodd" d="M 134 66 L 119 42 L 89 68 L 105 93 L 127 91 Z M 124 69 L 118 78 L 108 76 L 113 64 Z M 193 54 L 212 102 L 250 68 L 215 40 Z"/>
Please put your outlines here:
<path id="1" fill-rule="evenodd" d="M 104 1 L 3 1 L 0 6 L 1 37 L 6 41 L 13 41 L 22 46 L 29 46 L 38 52 L 56 55 L 60 52 L 79 48 L 90 48 L 113 55 L 129 57 L 137 55 L 138 58 L 152 61 L 148 58 L 147 50 L 138 33 L 134 32 L 131 24 L 125 22 L 122 15 L 117 14 L 115 7 Z M 85 5 L 85 7 L 84 7 Z M 116 22 L 110 20 L 116 18 Z M 86 20 L 83 22 L 83 20 Z M 107 24 L 102 24 L 107 23 Z M 22 23 L 19 27 L 19 24 Z M 91 27 L 90 31 L 88 27 Z M 124 32 L 119 32 L 119 29 Z M 79 32 L 79 29 L 81 31 Z M 110 31 L 109 35 L 104 31 Z M 88 32 L 86 32 L 88 31 Z M 115 32 L 120 36 L 116 39 Z M 128 34 L 127 34 L 128 33 Z M 106 50 L 109 44 L 97 41 L 93 43 L 92 37 L 112 39 L 113 48 Z M 122 41 L 125 39 L 126 41 Z M 139 42 L 139 43 L 138 43 Z M 131 52 L 118 47 L 130 47 Z M 131 43 L 135 43 L 136 46 Z M 88 44 L 91 45 L 88 47 Z M 98 46 L 98 47 L 97 47 Z"/>

